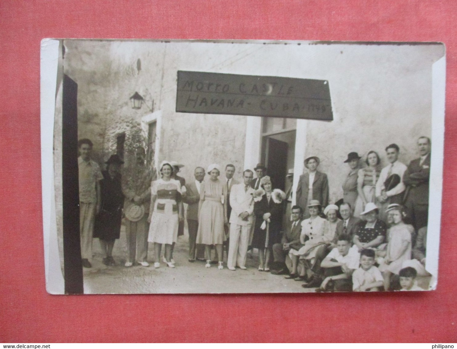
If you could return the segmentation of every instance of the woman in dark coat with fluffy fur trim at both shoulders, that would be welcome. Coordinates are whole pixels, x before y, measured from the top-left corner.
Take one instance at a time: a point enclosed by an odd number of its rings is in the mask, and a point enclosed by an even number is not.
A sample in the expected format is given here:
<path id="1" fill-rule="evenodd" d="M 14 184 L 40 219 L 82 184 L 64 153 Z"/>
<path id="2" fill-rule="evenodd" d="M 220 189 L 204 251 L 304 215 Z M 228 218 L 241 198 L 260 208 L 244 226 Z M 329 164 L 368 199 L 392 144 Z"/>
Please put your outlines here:
<path id="1" fill-rule="evenodd" d="M 252 247 L 259 249 L 259 270 L 270 271 L 270 250 L 275 243 L 281 242 L 284 209 L 282 201 L 286 194 L 279 189 L 272 190 L 271 179 L 268 176 L 262 177 L 260 185 L 265 192 L 261 197 L 254 199 L 255 227 Z"/>

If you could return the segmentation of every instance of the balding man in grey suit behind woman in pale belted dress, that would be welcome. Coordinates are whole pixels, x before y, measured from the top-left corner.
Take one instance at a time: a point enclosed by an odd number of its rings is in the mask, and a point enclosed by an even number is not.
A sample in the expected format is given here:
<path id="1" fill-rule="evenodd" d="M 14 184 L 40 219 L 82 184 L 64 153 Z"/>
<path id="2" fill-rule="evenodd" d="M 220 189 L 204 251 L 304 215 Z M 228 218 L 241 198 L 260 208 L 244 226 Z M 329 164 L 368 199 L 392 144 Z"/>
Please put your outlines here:
<path id="1" fill-rule="evenodd" d="M 194 172 L 195 181 L 186 184 L 187 195 L 183 201 L 187 206 L 187 226 L 189 227 L 189 262 L 195 262 L 196 240 L 198 231 L 198 203 L 200 202 L 200 184 L 205 177 L 205 169 L 197 167 Z M 198 245 L 197 258 L 204 259 L 205 247 Z"/>

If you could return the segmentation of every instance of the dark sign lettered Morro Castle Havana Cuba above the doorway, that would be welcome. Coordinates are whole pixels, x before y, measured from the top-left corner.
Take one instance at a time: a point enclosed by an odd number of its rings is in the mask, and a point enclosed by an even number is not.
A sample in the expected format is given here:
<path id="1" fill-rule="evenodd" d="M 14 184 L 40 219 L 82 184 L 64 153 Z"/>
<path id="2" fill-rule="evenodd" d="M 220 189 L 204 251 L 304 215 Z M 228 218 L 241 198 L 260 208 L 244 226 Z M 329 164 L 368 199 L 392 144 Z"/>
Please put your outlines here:
<path id="1" fill-rule="evenodd" d="M 333 120 L 325 80 L 182 70 L 176 112 Z"/>

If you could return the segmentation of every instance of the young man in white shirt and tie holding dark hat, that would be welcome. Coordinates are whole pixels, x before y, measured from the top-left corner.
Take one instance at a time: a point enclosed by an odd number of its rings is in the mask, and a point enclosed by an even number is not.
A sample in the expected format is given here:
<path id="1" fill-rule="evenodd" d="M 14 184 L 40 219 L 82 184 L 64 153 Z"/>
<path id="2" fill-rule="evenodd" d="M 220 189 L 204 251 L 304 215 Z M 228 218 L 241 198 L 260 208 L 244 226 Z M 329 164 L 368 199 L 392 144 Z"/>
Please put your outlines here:
<path id="1" fill-rule="evenodd" d="M 386 147 L 389 164 L 381 170 L 376 183 L 375 195 L 380 203 L 379 219 L 386 221 L 386 208 L 389 204 L 401 204 L 404 194 L 402 181 L 406 165 L 398 161 L 400 148 L 395 143 Z"/>

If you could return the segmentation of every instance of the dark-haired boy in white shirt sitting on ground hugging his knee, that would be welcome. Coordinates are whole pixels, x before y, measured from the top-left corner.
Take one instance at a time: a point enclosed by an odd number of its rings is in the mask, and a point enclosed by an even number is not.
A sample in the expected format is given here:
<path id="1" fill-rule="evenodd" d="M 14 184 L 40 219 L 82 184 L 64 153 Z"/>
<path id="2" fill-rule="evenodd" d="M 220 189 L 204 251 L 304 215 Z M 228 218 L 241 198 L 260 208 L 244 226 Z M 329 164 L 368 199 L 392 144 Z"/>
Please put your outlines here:
<path id="1" fill-rule="evenodd" d="M 359 268 L 360 253 L 351 248 L 351 238 L 340 235 L 336 247 L 330 251 L 321 263 L 324 268 L 324 281 L 316 292 L 352 290 L 352 273 Z M 307 284 L 302 285 L 306 287 Z"/>

